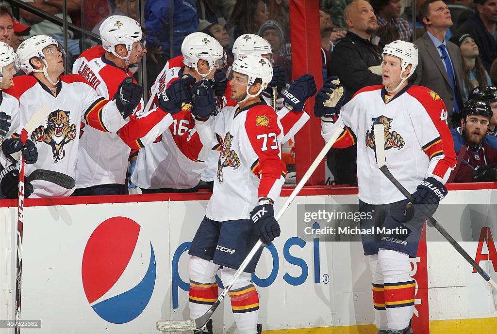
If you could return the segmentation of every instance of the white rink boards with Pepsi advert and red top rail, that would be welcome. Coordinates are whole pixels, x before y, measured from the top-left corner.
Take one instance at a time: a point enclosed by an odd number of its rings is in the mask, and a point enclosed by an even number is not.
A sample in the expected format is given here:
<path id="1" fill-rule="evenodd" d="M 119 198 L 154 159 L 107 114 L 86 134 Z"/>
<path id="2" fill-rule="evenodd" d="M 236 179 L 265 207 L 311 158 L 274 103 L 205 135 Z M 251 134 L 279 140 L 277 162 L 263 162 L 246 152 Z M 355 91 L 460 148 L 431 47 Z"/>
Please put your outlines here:
<path id="1" fill-rule="evenodd" d="M 492 189 L 494 184 L 487 186 L 471 190 L 473 185 L 458 185 L 446 199 L 458 204 L 451 206 L 454 216 L 435 218 L 456 240 L 468 233 L 468 224 L 479 224 L 476 241 L 462 246 L 473 258 L 480 254 L 481 266 L 497 280 L 497 210 L 489 205 L 497 202 L 497 190 Z M 282 235 L 264 249 L 253 277 L 263 330 L 376 333 L 371 326 L 371 275 L 361 244 L 324 242 L 319 237 L 306 242 L 298 236 L 298 204 L 356 203 L 357 189 L 318 187 L 302 194 L 283 215 Z M 21 318 L 41 320 L 41 328 L 22 332 L 154 334 L 160 333 L 155 329 L 159 319 L 189 319 L 187 250 L 208 197 L 110 197 L 114 203 L 98 203 L 101 198 L 28 201 Z M 13 319 L 15 297 L 17 209 L 5 207 L 9 204 L 14 202 L 2 201 L 0 209 L 3 320 Z M 434 233 L 433 227 L 427 227 L 428 236 Z M 429 333 L 497 333 L 497 294 L 447 242 L 428 240 L 412 260 L 417 283 L 414 333 L 428 333 L 428 328 Z M 215 332 L 234 332 L 229 298 L 213 319 Z M 13 330 L 1 328 L 0 333 Z"/>

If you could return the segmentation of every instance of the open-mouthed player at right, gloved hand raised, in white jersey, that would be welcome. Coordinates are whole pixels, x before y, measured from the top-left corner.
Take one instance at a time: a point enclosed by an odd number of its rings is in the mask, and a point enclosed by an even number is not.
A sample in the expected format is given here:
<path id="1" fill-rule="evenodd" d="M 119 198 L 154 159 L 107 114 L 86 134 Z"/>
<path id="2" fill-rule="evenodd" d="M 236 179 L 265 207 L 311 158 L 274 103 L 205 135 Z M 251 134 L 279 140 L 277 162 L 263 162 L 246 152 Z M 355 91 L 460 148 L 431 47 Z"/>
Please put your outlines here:
<path id="1" fill-rule="evenodd" d="M 316 95 L 315 114 L 322 119 L 325 140 L 341 121 L 357 137 L 359 210 L 373 212 L 372 219 L 361 220 L 361 228 L 401 224 L 411 231 L 386 236 L 376 229 L 375 235 L 362 235 L 373 276 L 378 333 L 411 334 L 415 282 L 409 257 L 416 256 L 424 221 L 447 195 L 444 183 L 455 166 L 455 153 L 447 109 L 438 94 L 406 81 L 417 65 L 415 45 L 392 42 L 385 46 L 383 59 L 383 85 L 359 90 L 340 111 L 343 89 L 331 78 Z M 376 165 L 376 122 L 385 126 L 380 145 L 385 146 L 389 170 L 413 194 L 414 206 Z M 349 136 L 346 132 L 342 139 Z"/>

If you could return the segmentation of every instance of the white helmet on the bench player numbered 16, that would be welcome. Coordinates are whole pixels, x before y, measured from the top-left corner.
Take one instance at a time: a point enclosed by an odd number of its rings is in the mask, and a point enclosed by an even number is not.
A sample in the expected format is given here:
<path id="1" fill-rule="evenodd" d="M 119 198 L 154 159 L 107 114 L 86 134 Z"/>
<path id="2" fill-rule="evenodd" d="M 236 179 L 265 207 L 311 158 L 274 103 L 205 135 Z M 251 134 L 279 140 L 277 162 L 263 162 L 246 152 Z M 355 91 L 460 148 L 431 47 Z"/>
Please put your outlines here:
<path id="1" fill-rule="evenodd" d="M 193 67 L 201 76 L 207 76 L 213 69 L 223 68 L 226 65 L 226 53 L 219 42 L 207 34 L 195 32 L 185 37 L 181 44 L 183 63 Z M 209 63 L 210 71 L 202 74 L 198 71 L 198 61 L 202 59 Z"/>

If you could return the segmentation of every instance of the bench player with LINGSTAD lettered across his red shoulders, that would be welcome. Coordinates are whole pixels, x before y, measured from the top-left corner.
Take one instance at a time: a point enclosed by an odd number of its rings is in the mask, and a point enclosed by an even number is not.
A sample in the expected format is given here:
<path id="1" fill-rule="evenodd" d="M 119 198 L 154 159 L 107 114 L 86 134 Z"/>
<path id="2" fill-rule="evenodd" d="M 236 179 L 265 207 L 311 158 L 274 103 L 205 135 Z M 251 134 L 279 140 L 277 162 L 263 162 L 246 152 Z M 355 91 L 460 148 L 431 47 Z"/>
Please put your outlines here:
<path id="1" fill-rule="evenodd" d="M 98 95 L 109 99 L 125 78 L 132 78 L 127 70 L 128 64 L 139 62 L 146 53 L 145 40 L 138 22 L 122 15 L 106 18 L 100 26 L 100 37 L 101 46 L 86 50 L 76 59 L 73 74 L 80 74 Z M 138 149 L 151 143 L 172 121 L 165 112 L 150 112 L 145 115 L 144 107 L 142 99 L 131 117 L 140 117 L 141 126 L 150 129 L 147 138 L 124 143 L 119 137 L 122 133 L 83 127 L 76 166 L 76 196 L 118 195 L 128 192 L 124 183 L 130 146 Z M 166 123 L 163 131 L 157 130 L 160 122 Z"/>

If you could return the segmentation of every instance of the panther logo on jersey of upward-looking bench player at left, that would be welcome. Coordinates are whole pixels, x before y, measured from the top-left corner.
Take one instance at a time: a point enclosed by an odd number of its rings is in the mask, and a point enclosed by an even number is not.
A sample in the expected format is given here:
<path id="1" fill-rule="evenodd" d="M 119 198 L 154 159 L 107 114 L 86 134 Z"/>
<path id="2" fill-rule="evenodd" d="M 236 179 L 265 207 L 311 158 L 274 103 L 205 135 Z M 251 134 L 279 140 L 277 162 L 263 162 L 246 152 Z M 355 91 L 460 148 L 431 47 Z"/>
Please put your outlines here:
<path id="1" fill-rule="evenodd" d="M 47 127 L 40 125 L 31 134 L 33 142 L 50 145 L 52 148 L 52 159 L 54 163 L 59 162 L 66 156 L 64 145 L 76 138 L 77 129 L 75 124 L 69 124 L 69 111 L 52 111 L 47 117 Z"/>

